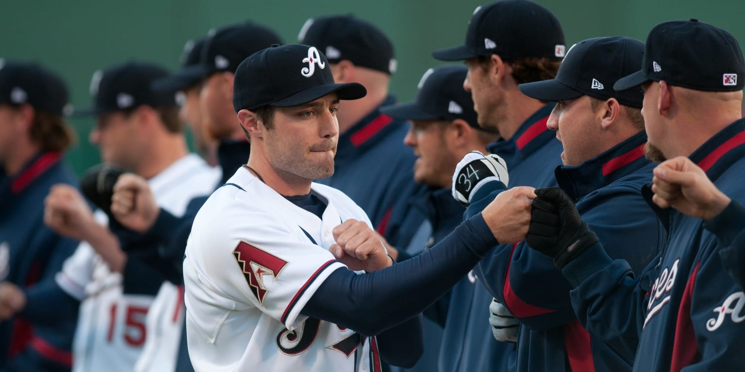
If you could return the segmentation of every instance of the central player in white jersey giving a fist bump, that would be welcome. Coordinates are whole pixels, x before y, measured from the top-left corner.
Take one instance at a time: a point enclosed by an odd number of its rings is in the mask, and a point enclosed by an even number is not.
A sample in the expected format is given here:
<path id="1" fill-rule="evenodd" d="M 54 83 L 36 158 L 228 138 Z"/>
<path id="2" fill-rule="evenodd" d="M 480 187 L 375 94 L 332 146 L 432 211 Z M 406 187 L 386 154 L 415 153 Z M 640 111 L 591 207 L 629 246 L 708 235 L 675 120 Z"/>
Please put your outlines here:
<path id="1" fill-rule="evenodd" d="M 334 83 L 308 45 L 267 48 L 238 66 L 233 103 L 250 158 L 200 209 L 184 260 L 196 371 L 380 371 L 378 356 L 413 365 L 422 353 L 415 315 L 495 240 L 522 239 L 529 187 L 391 266 L 361 208 L 312 182 L 334 171 L 337 101 L 364 94 Z"/>

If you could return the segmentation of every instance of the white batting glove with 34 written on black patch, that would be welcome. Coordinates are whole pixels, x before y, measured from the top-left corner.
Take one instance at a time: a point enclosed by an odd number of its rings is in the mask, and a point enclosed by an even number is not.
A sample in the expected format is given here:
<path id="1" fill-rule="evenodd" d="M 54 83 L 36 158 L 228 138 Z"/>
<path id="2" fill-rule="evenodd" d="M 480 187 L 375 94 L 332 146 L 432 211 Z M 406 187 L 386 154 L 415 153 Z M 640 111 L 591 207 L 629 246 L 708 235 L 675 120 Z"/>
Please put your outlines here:
<path id="1" fill-rule="evenodd" d="M 453 199 L 468 206 L 476 191 L 491 181 L 502 182 L 507 187 L 510 177 L 504 159 L 494 154 L 484 156 L 478 151 L 467 153 L 453 173 Z"/>

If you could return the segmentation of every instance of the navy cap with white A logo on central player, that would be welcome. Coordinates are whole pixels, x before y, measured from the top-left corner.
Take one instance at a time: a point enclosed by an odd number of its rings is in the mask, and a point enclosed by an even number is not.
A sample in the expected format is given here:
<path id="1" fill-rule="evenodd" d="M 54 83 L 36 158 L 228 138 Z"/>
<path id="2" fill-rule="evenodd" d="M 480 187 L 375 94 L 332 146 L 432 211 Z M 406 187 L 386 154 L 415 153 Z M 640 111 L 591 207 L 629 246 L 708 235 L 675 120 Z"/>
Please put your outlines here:
<path id="1" fill-rule="evenodd" d="M 251 55 L 238 66 L 233 83 L 233 108 L 290 107 L 337 92 L 340 100 L 367 94 L 360 83 L 334 83 L 329 60 L 315 47 L 275 45 Z"/>

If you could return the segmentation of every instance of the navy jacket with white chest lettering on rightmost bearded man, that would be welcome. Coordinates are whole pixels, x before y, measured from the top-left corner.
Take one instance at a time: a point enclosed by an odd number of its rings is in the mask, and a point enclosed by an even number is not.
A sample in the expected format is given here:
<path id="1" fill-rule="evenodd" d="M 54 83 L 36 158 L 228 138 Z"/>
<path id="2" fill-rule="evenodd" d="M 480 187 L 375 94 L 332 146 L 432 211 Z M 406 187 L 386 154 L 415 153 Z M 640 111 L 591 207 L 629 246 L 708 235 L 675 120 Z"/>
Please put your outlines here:
<path id="1" fill-rule="evenodd" d="M 744 156 L 745 120 L 740 120 L 689 158 L 743 204 Z M 571 301 L 577 317 L 590 333 L 621 349 L 636 349 L 633 371 L 740 371 L 745 294 L 722 266 L 717 237 L 703 228 L 702 219 L 656 211 L 668 228 L 667 243 L 638 277 L 624 260 L 611 260 L 600 243 L 562 269 L 575 287 Z"/>

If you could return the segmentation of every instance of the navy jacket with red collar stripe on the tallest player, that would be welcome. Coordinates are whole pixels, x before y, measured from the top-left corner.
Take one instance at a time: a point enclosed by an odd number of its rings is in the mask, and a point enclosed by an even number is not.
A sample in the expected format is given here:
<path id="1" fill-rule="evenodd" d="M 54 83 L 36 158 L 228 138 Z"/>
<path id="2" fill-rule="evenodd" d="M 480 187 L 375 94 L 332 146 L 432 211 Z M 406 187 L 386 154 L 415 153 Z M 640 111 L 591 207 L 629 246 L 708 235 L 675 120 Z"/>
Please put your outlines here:
<path id="1" fill-rule="evenodd" d="M 487 147 L 489 152 L 501 156 L 507 163 L 510 173 L 508 186 L 556 185 L 554 168 L 561 162 L 562 147 L 555 133 L 546 127 L 552 109 L 553 103 L 542 107 L 520 125 L 512 138 L 495 141 Z M 486 187 L 482 187 L 466 210 L 466 218 L 480 213 L 499 192 L 501 190 L 489 193 Z M 497 260 L 495 256 L 506 255 L 504 260 L 507 260 L 509 253 L 509 249 L 502 246 L 492 249 L 474 272 L 478 267 Z M 461 280 L 451 291 L 440 371 L 514 371 L 515 345 L 496 341 L 489 325 L 489 304 L 494 295 L 486 290 L 484 284 L 491 280 L 482 278 L 478 272 L 469 277 L 470 281 Z M 476 278 L 481 283 L 476 283 Z"/>

